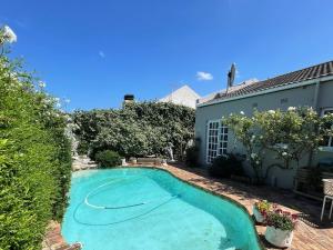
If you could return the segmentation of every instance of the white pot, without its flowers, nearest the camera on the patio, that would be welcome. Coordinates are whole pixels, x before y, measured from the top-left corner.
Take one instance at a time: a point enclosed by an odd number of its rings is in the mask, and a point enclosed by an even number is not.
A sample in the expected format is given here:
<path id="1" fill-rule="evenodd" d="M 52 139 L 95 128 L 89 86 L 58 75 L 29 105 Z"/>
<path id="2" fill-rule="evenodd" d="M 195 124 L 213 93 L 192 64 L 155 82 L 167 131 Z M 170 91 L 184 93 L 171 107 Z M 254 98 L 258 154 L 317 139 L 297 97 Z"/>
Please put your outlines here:
<path id="1" fill-rule="evenodd" d="M 269 226 L 265 231 L 265 239 L 275 247 L 289 248 L 292 244 L 293 234 L 293 231 L 283 231 Z"/>

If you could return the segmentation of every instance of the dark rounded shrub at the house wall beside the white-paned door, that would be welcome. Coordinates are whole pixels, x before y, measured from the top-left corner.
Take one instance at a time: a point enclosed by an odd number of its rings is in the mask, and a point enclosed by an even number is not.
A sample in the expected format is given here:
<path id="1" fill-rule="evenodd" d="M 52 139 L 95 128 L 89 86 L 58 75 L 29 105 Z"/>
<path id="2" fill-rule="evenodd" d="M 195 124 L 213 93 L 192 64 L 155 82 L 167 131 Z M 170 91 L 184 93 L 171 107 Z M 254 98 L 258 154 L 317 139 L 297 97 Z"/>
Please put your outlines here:
<path id="1" fill-rule="evenodd" d="M 220 156 L 209 167 L 209 172 L 218 178 L 230 178 L 231 174 L 243 176 L 242 161 L 234 154 Z"/>

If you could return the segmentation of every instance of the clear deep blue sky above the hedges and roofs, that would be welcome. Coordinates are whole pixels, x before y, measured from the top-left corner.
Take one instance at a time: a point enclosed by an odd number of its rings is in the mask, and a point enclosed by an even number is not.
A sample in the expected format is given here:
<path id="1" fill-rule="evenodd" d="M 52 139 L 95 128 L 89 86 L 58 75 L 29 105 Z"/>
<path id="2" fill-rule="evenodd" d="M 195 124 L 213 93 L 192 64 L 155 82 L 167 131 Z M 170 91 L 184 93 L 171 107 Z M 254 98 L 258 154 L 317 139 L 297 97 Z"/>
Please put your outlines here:
<path id="1" fill-rule="evenodd" d="M 332 60 L 332 10 L 331 0 L 10 0 L 0 23 L 18 36 L 12 57 L 72 110 L 184 83 L 204 96 L 225 87 L 232 62 L 241 82 Z"/>

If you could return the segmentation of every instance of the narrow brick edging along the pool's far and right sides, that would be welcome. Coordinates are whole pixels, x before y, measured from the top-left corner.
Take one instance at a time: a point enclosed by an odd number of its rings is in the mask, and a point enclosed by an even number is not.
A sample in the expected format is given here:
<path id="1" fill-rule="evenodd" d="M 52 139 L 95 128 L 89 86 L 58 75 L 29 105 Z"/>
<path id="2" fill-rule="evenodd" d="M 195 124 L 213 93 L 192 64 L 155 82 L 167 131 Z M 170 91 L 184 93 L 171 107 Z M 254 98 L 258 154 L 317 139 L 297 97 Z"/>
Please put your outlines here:
<path id="1" fill-rule="evenodd" d="M 255 240 L 258 242 L 258 246 L 260 247 L 261 250 L 265 250 L 266 248 L 263 246 L 263 242 L 262 240 L 260 239 L 259 237 L 259 232 L 256 230 L 256 227 L 255 227 L 255 222 L 253 221 L 253 218 L 252 216 L 250 214 L 249 210 L 246 209 L 245 206 L 243 206 L 242 203 L 240 203 L 239 201 L 228 197 L 228 196 L 223 196 L 222 193 L 219 193 L 214 190 L 210 190 L 208 188 L 204 188 L 204 187 L 201 187 L 199 184 L 196 184 L 195 182 L 192 182 L 190 180 L 185 180 L 185 179 L 182 179 L 181 177 L 178 177 L 175 173 L 171 172 L 168 168 L 168 166 L 163 167 L 163 166 L 141 166 L 141 164 L 128 164 L 128 166 L 118 166 L 118 167 L 112 167 L 112 168 L 105 168 L 105 169 L 93 169 L 94 170 L 112 170 L 112 169 L 125 169 L 125 168 L 132 168 L 132 169 L 155 169 L 155 170 L 161 170 L 161 171 L 164 171 L 167 172 L 168 174 L 172 176 L 173 178 L 180 180 L 181 182 L 184 182 L 186 184 L 190 184 L 192 186 L 193 188 L 198 188 L 206 193 L 210 193 L 210 194 L 213 194 L 213 196 L 216 196 L 221 199 L 225 199 L 228 200 L 229 202 L 235 204 L 238 208 L 242 209 L 245 214 L 248 216 L 249 220 L 250 220 L 250 223 L 252 226 L 252 229 L 254 230 L 255 232 Z"/>

